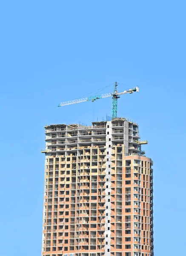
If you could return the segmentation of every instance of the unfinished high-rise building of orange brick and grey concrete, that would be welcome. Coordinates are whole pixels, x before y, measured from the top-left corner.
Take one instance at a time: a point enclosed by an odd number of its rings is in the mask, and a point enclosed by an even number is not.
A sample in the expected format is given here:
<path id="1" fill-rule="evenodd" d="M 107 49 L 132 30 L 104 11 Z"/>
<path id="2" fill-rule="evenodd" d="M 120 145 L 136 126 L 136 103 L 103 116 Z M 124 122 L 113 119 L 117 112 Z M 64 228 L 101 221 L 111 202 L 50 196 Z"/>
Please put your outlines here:
<path id="1" fill-rule="evenodd" d="M 138 125 L 45 130 L 42 255 L 153 256 L 153 163 Z"/>

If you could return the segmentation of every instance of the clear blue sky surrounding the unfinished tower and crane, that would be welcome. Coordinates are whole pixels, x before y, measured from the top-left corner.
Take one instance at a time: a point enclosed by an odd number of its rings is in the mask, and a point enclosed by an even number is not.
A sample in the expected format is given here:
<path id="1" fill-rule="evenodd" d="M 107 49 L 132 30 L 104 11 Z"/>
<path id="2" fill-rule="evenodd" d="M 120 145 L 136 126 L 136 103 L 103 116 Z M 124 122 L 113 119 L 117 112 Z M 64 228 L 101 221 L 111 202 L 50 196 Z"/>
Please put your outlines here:
<path id="1" fill-rule="evenodd" d="M 185 9 L 180 0 L 0 1 L 0 255 L 40 255 L 43 126 L 90 124 L 92 102 L 57 105 L 114 81 L 140 87 L 118 100 L 118 114 L 138 122 L 154 160 L 155 255 L 184 255 Z M 111 102 L 97 100 L 94 119 Z"/>

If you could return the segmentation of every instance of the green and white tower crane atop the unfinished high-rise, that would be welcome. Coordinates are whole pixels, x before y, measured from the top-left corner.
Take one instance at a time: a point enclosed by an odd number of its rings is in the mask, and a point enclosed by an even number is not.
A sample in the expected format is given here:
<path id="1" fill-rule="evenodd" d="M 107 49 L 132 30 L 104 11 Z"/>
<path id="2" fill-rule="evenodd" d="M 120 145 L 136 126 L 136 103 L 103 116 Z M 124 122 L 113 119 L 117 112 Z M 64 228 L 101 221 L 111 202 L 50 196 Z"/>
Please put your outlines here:
<path id="1" fill-rule="evenodd" d="M 105 93 L 105 94 L 100 94 L 96 96 L 90 96 L 86 97 L 83 99 L 74 99 L 74 100 L 69 100 L 67 102 L 61 102 L 58 107 L 66 106 L 66 105 L 71 105 L 75 103 L 80 103 L 80 102 L 87 102 L 87 101 L 92 101 L 94 102 L 96 99 L 103 99 L 107 97 L 112 97 L 112 119 L 117 118 L 117 99 L 120 98 L 120 95 L 126 94 L 126 93 L 133 93 L 133 92 L 139 92 L 139 87 L 134 87 L 129 90 L 125 90 L 121 93 L 117 93 L 117 82 L 114 83 L 114 92 L 113 93 Z"/>

